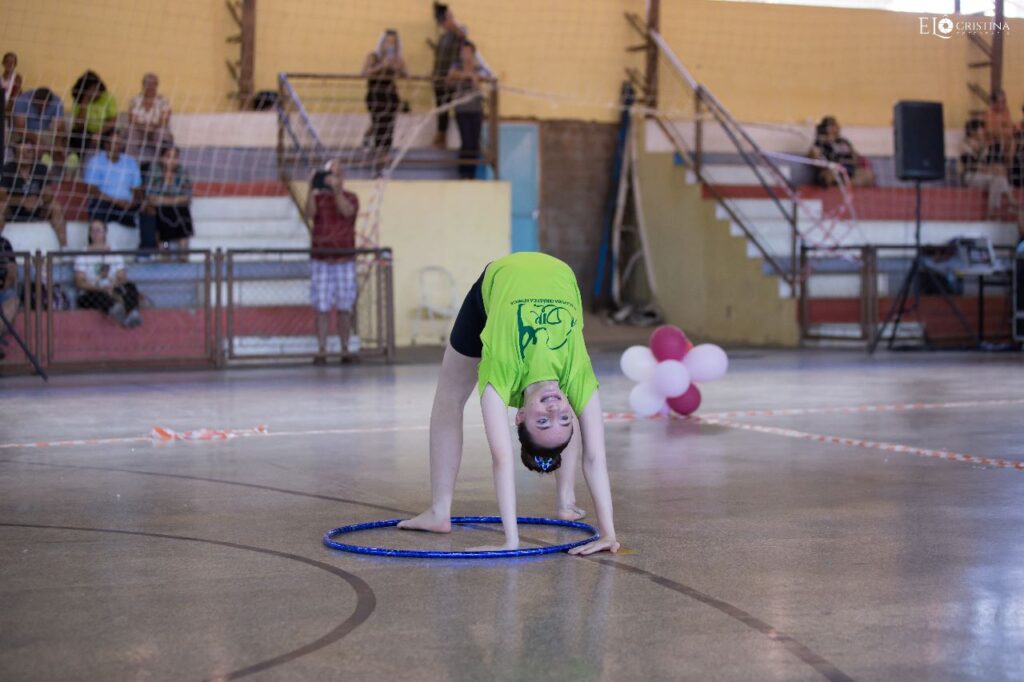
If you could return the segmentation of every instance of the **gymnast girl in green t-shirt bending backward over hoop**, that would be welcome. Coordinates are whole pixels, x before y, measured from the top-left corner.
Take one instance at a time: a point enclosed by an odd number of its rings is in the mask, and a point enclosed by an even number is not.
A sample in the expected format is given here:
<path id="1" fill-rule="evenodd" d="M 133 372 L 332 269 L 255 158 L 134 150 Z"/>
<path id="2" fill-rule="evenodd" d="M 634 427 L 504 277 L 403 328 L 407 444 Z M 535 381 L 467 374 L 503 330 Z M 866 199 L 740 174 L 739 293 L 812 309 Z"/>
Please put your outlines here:
<path id="1" fill-rule="evenodd" d="M 573 483 L 583 471 L 601 537 L 570 554 L 615 553 L 611 488 L 597 378 L 583 339 L 583 302 L 568 265 L 542 253 L 516 253 L 489 263 L 459 310 L 430 413 L 430 509 L 399 528 L 450 532 L 452 498 L 462 461 L 462 421 L 473 388 L 480 392 L 505 544 L 519 549 L 508 408 L 517 408 L 520 460 L 554 473 L 560 518 L 578 520 Z M 582 447 L 581 447 L 582 441 Z"/>

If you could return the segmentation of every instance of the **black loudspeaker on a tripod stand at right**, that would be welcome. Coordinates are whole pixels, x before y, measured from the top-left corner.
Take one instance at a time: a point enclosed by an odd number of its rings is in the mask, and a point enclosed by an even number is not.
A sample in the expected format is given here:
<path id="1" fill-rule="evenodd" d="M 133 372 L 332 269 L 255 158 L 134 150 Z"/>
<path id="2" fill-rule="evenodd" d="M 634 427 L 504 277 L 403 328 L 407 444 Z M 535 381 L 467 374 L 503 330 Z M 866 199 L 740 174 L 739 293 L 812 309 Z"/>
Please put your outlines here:
<path id="1" fill-rule="evenodd" d="M 893 106 L 896 177 L 941 180 L 946 176 L 942 102 L 898 101 Z"/>

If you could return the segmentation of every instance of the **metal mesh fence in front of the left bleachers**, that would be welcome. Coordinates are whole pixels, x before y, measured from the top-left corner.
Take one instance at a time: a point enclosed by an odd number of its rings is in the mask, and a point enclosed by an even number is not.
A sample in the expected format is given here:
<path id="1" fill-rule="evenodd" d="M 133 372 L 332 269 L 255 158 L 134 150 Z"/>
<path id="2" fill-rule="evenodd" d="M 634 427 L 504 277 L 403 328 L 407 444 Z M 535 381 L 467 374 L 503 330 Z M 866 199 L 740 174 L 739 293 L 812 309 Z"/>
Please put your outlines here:
<path id="1" fill-rule="evenodd" d="M 391 361 L 394 292 L 386 248 L 189 251 L 173 260 L 128 251 L 15 253 L 9 256 L 18 293 L 12 324 L 48 370 L 312 359 L 319 348 L 311 257 L 350 259 L 354 269 L 353 338 L 343 349 L 330 319 L 325 359 Z M 109 297 L 90 293 L 89 272 Z M 0 349 L 0 376 L 32 371 L 10 334 Z"/>

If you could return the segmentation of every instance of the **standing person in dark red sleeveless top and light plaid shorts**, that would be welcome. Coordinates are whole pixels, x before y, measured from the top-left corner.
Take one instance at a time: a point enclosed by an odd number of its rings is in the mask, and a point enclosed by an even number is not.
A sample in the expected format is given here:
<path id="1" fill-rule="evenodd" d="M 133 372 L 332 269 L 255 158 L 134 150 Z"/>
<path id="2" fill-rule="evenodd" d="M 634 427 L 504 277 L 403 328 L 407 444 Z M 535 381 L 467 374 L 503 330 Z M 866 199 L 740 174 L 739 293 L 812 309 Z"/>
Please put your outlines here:
<path id="1" fill-rule="evenodd" d="M 306 195 L 306 219 L 313 224 L 310 248 L 309 298 L 316 311 L 316 365 L 327 363 L 327 331 L 331 309 L 337 315 L 342 363 L 348 352 L 352 306 L 355 305 L 355 260 L 352 256 L 317 254 L 317 249 L 354 249 L 359 198 L 345 190 L 340 161 L 329 161 L 313 174 Z M 352 349 L 354 350 L 354 349 Z"/>

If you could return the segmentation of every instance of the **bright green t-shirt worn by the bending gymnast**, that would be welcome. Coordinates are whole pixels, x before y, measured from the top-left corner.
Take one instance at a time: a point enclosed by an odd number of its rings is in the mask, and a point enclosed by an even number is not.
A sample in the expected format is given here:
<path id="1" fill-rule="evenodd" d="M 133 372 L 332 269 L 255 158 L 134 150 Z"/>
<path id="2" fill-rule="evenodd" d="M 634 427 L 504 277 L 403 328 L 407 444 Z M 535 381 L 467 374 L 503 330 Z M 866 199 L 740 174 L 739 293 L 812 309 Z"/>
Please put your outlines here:
<path id="1" fill-rule="evenodd" d="M 483 274 L 487 322 L 479 389 L 490 384 L 505 404 L 522 407 L 522 390 L 555 379 L 577 415 L 597 390 L 583 340 L 583 301 L 568 265 L 543 253 L 514 253 Z"/>

